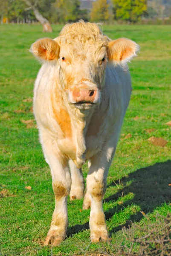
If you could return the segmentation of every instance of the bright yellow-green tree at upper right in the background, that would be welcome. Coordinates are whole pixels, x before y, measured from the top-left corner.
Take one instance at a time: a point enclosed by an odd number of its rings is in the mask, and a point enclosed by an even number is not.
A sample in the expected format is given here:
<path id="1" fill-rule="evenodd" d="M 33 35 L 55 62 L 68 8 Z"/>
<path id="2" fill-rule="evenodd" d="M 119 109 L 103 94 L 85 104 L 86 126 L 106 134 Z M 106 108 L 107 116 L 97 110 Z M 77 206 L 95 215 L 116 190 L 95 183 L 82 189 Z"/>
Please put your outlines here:
<path id="1" fill-rule="evenodd" d="M 136 22 L 147 9 L 147 0 L 113 0 L 114 19 Z"/>

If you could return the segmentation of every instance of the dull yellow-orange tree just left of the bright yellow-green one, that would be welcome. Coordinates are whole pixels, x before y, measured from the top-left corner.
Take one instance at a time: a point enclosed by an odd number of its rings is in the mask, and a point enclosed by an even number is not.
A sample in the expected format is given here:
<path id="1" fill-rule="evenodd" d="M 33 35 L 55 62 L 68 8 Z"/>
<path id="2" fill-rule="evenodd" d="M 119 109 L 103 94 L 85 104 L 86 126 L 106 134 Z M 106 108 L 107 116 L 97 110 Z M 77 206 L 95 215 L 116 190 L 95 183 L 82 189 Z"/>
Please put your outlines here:
<path id="1" fill-rule="evenodd" d="M 108 21 L 111 17 L 109 6 L 107 0 L 97 0 L 94 2 L 90 13 L 90 19 L 92 21 Z"/>

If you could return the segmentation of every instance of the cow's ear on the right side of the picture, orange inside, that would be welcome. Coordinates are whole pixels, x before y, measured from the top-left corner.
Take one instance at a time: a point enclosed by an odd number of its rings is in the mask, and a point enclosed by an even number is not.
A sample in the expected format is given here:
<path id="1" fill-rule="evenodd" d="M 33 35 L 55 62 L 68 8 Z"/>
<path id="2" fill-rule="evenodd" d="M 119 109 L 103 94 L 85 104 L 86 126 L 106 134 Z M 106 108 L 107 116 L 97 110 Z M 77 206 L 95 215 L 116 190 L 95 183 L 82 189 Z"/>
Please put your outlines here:
<path id="1" fill-rule="evenodd" d="M 139 45 L 128 38 L 119 38 L 110 41 L 107 47 L 109 61 L 125 63 L 136 56 Z"/>

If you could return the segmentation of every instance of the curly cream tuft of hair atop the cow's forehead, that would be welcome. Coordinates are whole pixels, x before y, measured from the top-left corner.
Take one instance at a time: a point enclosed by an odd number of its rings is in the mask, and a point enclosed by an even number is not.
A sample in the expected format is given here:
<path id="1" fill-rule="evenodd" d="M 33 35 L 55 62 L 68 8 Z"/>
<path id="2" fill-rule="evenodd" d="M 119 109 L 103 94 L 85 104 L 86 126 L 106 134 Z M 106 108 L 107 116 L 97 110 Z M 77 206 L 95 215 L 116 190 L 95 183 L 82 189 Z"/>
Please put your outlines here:
<path id="1" fill-rule="evenodd" d="M 61 45 L 61 55 L 65 55 L 68 59 L 88 57 L 92 61 L 94 58 L 104 57 L 110 41 L 96 23 L 83 20 L 65 25 L 58 40 Z"/>

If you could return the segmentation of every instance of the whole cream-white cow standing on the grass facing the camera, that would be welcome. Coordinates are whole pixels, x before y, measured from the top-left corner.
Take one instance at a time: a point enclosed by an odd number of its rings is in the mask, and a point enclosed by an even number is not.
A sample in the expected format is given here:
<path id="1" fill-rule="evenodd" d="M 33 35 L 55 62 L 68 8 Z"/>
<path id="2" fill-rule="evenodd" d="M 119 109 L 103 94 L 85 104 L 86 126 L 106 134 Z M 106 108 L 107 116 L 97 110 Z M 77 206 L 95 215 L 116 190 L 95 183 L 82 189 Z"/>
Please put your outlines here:
<path id="1" fill-rule="evenodd" d="M 67 24 L 55 39 L 31 52 L 42 63 L 35 82 L 34 113 L 52 173 L 55 210 L 45 245 L 58 245 L 68 226 L 67 197 L 83 197 L 81 166 L 89 160 L 83 209 L 91 207 L 91 241 L 109 239 L 103 212 L 107 172 L 131 94 L 127 62 L 138 45 L 111 40 L 95 23 Z"/>

